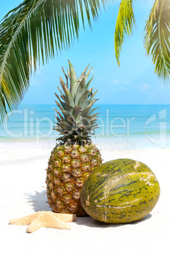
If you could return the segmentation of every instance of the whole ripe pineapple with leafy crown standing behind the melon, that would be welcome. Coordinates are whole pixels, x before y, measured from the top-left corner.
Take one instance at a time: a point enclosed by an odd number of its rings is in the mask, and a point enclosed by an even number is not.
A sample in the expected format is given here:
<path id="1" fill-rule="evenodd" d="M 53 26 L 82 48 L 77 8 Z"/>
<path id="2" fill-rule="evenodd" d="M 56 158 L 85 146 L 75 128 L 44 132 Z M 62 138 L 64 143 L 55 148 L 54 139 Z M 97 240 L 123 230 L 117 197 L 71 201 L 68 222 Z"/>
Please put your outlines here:
<path id="1" fill-rule="evenodd" d="M 89 65 L 88 65 L 89 67 Z M 74 213 L 77 216 L 88 215 L 81 206 L 81 187 L 89 174 L 101 165 L 101 155 L 98 148 L 91 143 L 91 134 L 98 127 L 96 115 L 91 110 L 97 101 L 93 89 L 88 89 L 93 77 L 86 83 L 92 68 L 84 69 L 79 79 L 69 61 L 69 69 L 65 74 L 67 83 L 60 77 L 61 96 L 57 94 L 56 126 L 60 138 L 56 139 L 55 148 L 49 157 L 46 184 L 49 206 L 56 213 Z M 70 80 L 70 89 L 69 83 Z M 92 132 L 93 131 L 93 132 Z"/>

